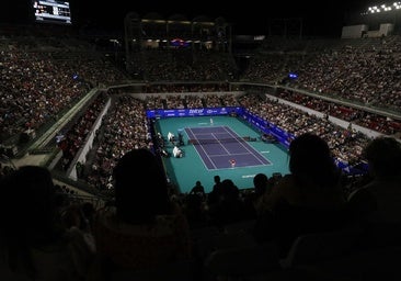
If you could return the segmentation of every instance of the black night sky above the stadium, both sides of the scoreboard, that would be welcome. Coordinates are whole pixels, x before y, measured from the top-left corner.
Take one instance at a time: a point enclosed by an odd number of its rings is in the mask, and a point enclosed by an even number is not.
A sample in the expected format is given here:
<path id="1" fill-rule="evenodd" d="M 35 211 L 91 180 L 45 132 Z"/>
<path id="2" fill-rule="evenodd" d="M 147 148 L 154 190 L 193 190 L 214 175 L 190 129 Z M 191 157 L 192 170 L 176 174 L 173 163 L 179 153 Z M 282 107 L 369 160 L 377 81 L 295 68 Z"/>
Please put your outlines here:
<path id="1" fill-rule="evenodd" d="M 24 21 L 28 18 L 27 7 L 31 0 L 9 0 L 2 3 L 0 22 Z M 123 29 L 124 16 L 136 12 L 140 16 L 158 12 L 165 19 L 172 14 L 184 14 L 188 20 L 197 15 L 207 15 L 211 20 L 222 16 L 233 24 L 233 34 L 267 34 L 272 20 L 301 19 L 306 35 L 341 33 L 346 16 L 360 11 L 373 1 L 152 1 L 152 0 L 69 0 L 71 15 L 76 26 L 90 24 L 99 27 Z M 320 2 L 320 3 L 319 3 Z M 378 3 L 378 2 L 374 2 Z M 380 3 L 380 2 L 379 2 Z M 5 9 L 4 9 L 5 5 Z M 10 9 L 7 9 L 10 8 Z M 15 13 L 10 13 L 15 11 Z M 26 21 L 26 20 L 25 20 Z"/>

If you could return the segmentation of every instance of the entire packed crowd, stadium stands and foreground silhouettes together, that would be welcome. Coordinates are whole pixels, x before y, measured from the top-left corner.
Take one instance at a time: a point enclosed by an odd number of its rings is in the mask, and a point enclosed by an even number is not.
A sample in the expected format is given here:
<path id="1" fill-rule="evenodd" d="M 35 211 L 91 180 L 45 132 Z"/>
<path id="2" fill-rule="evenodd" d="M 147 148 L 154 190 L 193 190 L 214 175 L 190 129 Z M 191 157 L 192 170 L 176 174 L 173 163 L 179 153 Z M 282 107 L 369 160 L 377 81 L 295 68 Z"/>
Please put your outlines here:
<path id="1" fill-rule="evenodd" d="M 375 48 L 345 46 L 313 58 L 303 57 L 303 53 L 282 54 L 286 59 L 279 54 L 260 55 L 251 61 L 243 79 L 277 85 L 288 71 L 296 70 L 299 79 L 285 83 L 399 111 L 398 41 L 397 36 L 380 41 L 381 45 Z M 68 52 L 64 50 L 66 46 Z M 85 46 L 70 45 L 68 40 L 56 44 L 38 38 L 4 38 L 0 47 L 2 142 L 57 120 L 91 89 L 127 79 L 108 60 L 89 56 L 91 52 Z M 144 70 L 146 77 L 158 81 L 230 79 L 230 60 L 216 59 L 216 54 L 205 55 L 198 54 L 197 60 L 205 64 L 184 64 L 193 61 L 188 54 L 162 59 L 162 53 L 149 50 Z M 65 159 L 70 161 L 79 150 L 105 99 L 110 98 L 112 106 L 95 132 L 92 157 L 80 173 L 93 189 L 107 191 L 110 201 L 101 207 L 70 201 L 68 192 L 55 186 L 47 168 L 1 167 L 0 277 L 112 280 L 121 271 L 148 270 L 142 272 L 150 274 L 162 266 L 184 260 L 193 261 L 191 265 L 196 268 L 192 280 L 217 280 L 219 276 L 207 267 L 216 250 L 239 249 L 244 245 L 263 247 L 268 243 L 277 249 L 274 261 L 278 262 L 300 235 L 350 226 L 360 231 L 353 251 L 377 247 L 378 240 L 380 246 L 400 246 L 399 239 L 386 237 L 389 234 L 399 237 L 401 223 L 401 148 L 394 137 L 368 138 L 326 119 L 266 100 L 263 90 L 240 97 L 218 94 L 221 90 L 230 89 L 220 82 L 147 85 L 144 92 L 157 94 L 148 95 L 145 101 L 110 89 L 89 104 L 77 123 L 65 132 L 69 140 Z M 187 94 L 199 91 L 208 93 Z M 400 128 L 399 121 L 382 122 L 383 116 L 376 119 L 370 113 L 298 93 L 283 91 L 278 97 L 352 122 L 365 120 L 368 127 L 385 134 L 396 134 Z M 288 150 L 290 173 L 257 175 L 254 187 L 243 191 L 231 179 L 216 176 L 210 193 L 205 193 L 202 182 L 194 179 L 192 192 L 177 193 L 154 153 L 156 132 L 145 110 L 226 105 L 243 105 L 296 136 Z M 373 117 L 366 121 L 366 116 Z M 350 179 L 332 156 L 350 164 L 364 159 L 369 175 Z M 146 177 L 149 170 L 152 175 Z M 247 227 L 232 231 L 237 223 L 243 222 Z M 383 224 L 391 225 L 392 231 L 375 236 Z M 234 240 L 230 235 L 233 233 Z M 232 260 L 225 262 L 231 265 Z M 283 273 L 283 268 L 278 271 Z"/>

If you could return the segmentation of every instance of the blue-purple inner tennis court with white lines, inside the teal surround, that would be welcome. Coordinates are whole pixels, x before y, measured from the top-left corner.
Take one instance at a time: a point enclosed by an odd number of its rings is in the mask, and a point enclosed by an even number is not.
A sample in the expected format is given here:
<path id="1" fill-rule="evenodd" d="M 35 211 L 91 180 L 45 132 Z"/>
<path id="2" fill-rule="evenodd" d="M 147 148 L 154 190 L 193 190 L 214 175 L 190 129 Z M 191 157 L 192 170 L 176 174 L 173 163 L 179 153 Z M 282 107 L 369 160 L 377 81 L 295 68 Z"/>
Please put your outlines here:
<path id="1" fill-rule="evenodd" d="M 185 133 L 208 170 L 272 165 L 248 144 L 250 138 L 228 126 L 185 127 Z"/>

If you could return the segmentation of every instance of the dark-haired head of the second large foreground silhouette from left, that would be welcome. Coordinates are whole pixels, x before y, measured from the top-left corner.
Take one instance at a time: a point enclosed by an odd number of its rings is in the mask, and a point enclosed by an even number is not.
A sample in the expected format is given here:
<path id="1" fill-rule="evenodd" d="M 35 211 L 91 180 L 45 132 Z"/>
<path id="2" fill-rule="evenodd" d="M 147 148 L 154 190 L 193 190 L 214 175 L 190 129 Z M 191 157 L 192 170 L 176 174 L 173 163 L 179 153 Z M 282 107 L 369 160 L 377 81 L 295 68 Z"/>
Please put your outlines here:
<path id="1" fill-rule="evenodd" d="M 170 213 L 164 169 L 146 148 L 126 153 L 113 171 L 117 216 L 126 223 L 151 223 Z"/>

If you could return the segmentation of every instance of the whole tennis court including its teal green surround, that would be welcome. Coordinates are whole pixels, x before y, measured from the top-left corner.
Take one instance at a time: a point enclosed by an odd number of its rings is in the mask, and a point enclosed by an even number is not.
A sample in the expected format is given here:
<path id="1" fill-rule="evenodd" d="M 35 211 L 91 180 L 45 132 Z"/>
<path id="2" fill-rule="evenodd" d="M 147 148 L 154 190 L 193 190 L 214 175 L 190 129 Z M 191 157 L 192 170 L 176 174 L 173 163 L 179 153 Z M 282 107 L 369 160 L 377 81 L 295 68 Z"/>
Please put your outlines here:
<path id="1" fill-rule="evenodd" d="M 165 117 L 156 121 L 157 132 L 164 137 L 169 132 L 175 135 L 183 133 L 184 145 L 180 148 L 184 151 L 184 157 L 163 158 L 169 179 L 179 187 L 180 192 L 190 192 L 196 180 L 200 180 L 205 191 L 210 192 L 216 175 L 222 180 L 231 179 L 240 189 L 247 189 L 253 187 L 253 178 L 259 172 L 268 177 L 274 172 L 288 173 L 288 156 L 284 146 L 260 140 L 260 132 L 240 119 L 214 116 L 213 120 L 213 124 L 209 116 Z M 192 133 L 185 128 L 191 128 Z M 214 134 L 222 139 L 220 144 L 216 143 L 218 140 L 214 139 Z M 256 138 L 256 142 L 247 140 L 248 136 Z M 165 149 L 172 153 L 173 145 L 168 143 Z M 206 165 L 209 157 L 213 161 Z M 231 158 L 236 159 L 234 168 L 229 166 Z"/>

